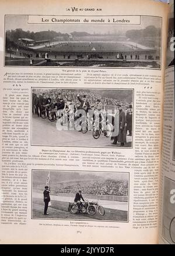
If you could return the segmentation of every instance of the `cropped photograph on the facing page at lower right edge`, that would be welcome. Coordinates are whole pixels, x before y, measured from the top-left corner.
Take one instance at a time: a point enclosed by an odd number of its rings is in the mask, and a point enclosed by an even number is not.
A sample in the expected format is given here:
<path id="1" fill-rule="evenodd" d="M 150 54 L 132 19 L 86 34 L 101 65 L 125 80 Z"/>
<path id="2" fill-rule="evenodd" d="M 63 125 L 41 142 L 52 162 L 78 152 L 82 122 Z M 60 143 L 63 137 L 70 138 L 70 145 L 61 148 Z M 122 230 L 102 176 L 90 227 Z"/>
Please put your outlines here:
<path id="1" fill-rule="evenodd" d="M 162 236 L 175 244 L 175 181 L 164 177 Z"/>

